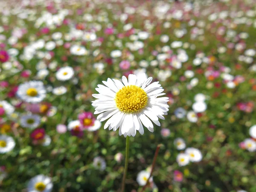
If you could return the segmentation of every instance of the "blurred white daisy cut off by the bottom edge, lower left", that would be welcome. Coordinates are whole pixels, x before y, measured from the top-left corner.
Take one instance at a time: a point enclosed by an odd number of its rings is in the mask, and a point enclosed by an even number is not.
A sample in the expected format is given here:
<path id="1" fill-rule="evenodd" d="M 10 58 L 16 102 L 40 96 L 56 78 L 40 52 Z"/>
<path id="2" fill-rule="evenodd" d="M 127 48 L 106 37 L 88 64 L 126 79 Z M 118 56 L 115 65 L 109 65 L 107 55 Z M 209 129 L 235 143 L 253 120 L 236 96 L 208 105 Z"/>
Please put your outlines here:
<path id="1" fill-rule="evenodd" d="M 29 180 L 28 192 L 51 192 L 52 191 L 51 177 L 45 175 L 37 175 Z"/>

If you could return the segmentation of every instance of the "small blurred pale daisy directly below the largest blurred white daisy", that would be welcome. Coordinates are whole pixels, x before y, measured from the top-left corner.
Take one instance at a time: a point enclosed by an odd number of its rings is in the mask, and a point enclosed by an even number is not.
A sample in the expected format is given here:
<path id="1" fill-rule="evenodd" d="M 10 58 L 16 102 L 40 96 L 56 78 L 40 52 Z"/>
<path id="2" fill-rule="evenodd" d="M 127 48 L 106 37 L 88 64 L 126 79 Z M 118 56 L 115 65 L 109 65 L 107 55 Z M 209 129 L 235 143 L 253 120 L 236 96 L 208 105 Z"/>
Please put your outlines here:
<path id="1" fill-rule="evenodd" d="M 41 117 L 39 115 L 23 115 L 20 117 L 20 125 L 24 128 L 37 128 L 40 125 Z"/>

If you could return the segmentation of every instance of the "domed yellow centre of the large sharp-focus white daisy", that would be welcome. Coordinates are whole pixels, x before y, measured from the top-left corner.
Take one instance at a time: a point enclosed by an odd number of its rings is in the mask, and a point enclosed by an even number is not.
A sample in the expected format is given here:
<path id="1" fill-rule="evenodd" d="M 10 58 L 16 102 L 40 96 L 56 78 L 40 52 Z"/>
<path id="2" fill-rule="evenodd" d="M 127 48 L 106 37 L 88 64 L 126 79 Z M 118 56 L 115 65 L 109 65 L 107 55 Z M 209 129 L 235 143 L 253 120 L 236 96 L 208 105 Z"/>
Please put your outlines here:
<path id="1" fill-rule="evenodd" d="M 136 85 L 122 87 L 116 93 L 116 107 L 124 113 L 134 113 L 140 111 L 147 105 L 147 93 Z"/>

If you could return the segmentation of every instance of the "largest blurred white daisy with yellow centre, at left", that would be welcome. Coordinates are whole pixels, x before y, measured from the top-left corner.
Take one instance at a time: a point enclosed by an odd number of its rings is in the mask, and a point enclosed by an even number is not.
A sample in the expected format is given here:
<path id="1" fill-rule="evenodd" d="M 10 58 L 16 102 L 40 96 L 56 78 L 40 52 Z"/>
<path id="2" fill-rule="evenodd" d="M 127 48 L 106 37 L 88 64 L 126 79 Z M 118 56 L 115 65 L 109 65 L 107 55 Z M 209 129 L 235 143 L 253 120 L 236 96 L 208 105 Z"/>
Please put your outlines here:
<path id="1" fill-rule="evenodd" d="M 38 103 L 46 97 L 46 89 L 42 81 L 28 81 L 19 85 L 16 94 L 25 102 Z"/>

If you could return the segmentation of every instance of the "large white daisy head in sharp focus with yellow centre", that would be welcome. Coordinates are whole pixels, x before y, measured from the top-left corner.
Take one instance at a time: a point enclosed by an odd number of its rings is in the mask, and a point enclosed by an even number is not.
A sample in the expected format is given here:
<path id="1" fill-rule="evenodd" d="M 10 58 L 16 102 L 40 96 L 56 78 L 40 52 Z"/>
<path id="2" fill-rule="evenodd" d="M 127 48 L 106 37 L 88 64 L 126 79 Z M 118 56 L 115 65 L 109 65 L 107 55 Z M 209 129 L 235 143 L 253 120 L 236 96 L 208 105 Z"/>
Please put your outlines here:
<path id="1" fill-rule="evenodd" d="M 116 131 L 119 128 L 119 135 L 134 137 L 136 131 L 144 134 L 143 125 L 150 132 L 154 131 L 152 122 L 160 126 L 158 118 L 164 119 L 163 115 L 167 115 L 169 98 L 157 98 L 164 95 L 163 88 L 158 81 L 150 84 L 151 81 L 152 77 L 146 79 L 130 74 L 128 80 L 122 77 L 123 83 L 108 78 L 102 81 L 106 86 L 98 85 L 99 94 L 93 94 L 97 99 L 92 105 L 96 107 L 94 114 L 101 113 L 97 117 L 101 122 L 110 118 L 105 129 Z"/>

